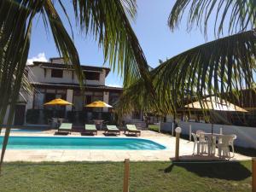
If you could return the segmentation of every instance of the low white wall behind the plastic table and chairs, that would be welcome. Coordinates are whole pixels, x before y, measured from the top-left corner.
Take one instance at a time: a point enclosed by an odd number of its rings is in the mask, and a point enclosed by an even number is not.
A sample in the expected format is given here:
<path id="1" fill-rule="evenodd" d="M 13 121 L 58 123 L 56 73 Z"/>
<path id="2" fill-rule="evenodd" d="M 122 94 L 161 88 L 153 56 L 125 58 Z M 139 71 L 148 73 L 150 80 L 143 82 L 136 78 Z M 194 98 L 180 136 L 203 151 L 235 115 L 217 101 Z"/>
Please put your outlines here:
<path id="1" fill-rule="evenodd" d="M 169 125 L 168 125 L 169 124 Z M 212 131 L 211 124 L 195 123 L 195 122 L 184 122 L 180 121 L 178 126 L 182 128 L 182 134 L 189 135 L 189 125 L 191 125 L 192 132 L 202 130 L 206 132 Z M 219 133 L 220 127 L 223 128 L 223 134 L 236 134 L 235 140 L 236 146 L 245 148 L 256 148 L 256 128 L 247 126 L 236 126 L 236 125 L 213 125 L 213 132 Z M 172 123 L 165 123 L 161 125 L 161 130 L 172 131 Z"/>

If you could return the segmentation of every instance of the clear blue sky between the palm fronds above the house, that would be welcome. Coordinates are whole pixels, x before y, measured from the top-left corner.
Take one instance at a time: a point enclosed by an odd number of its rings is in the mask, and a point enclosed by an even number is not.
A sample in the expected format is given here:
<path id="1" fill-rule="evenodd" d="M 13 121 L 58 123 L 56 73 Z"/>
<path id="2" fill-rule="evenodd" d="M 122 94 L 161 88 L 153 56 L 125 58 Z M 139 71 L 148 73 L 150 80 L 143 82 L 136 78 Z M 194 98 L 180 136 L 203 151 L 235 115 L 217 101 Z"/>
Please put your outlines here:
<path id="1" fill-rule="evenodd" d="M 167 20 L 174 2 L 170 0 L 137 0 L 137 17 L 131 25 L 151 67 L 157 67 L 160 59 L 165 61 L 166 58 L 172 58 L 172 56 L 187 49 L 206 43 L 206 38 L 199 29 L 194 28 L 187 32 L 186 17 L 174 32 L 170 30 Z M 74 44 L 79 51 L 81 64 L 102 67 L 104 61 L 102 49 L 98 47 L 91 36 L 84 37 L 79 28 L 75 26 L 71 3 L 67 1 L 65 6 L 67 6 L 67 13 L 71 15 Z M 60 9 L 57 7 L 57 10 Z M 68 32 L 71 32 L 63 14 L 61 14 L 61 18 L 63 18 L 62 22 L 67 26 Z M 211 25 L 209 28 L 210 32 L 207 39 L 212 40 L 214 37 L 211 34 Z M 43 21 L 38 18 L 33 23 L 28 62 L 47 61 L 50 57 L 56 56 L 59 54 L 55 48 L 54 39 L 50 35 L 50 30 L 49 32 L 44 30 Z M 108 63 L 105 63 L 105 67 L 108 67 Z M 106 84 L 122 86 L 122 79 L 117 73 L 111 72 L 108 74 Z"/>

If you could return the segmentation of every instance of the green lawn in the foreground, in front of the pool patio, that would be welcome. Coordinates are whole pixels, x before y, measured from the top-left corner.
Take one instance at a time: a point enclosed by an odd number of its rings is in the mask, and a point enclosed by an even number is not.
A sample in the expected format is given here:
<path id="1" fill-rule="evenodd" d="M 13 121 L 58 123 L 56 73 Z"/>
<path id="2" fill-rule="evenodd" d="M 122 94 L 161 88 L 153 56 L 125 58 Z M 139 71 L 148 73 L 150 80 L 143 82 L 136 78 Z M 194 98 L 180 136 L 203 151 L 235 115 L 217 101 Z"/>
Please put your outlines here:
<path id="1" fill-rule="evenodd" d="M 132 162 L 130 191 L 251 191 L 251 161 Z M 120 192 L 123 163 L 5 163 L 1 192 Z"/>

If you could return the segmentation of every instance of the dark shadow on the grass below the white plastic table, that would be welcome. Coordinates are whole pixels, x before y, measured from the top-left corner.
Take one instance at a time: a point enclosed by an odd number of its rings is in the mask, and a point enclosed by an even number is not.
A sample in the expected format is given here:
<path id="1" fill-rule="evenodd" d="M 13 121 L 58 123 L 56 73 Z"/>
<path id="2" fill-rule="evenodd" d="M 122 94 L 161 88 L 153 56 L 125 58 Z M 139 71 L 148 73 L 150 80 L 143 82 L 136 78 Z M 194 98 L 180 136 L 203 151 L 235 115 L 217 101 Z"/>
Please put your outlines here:
<path id="1" fill-rule="evenodd" d="M 247 167 L 235 161 L 212 161 L 212 162 L 172 162 L 172 165 L 166 167 L 164 172 L 172 172 L 173 168 L 182 167 L 188 172 L 194 172 L 199 177 L 219 178 L 226 180 L 239 181 L 251 177 L 252 172 Z"/>

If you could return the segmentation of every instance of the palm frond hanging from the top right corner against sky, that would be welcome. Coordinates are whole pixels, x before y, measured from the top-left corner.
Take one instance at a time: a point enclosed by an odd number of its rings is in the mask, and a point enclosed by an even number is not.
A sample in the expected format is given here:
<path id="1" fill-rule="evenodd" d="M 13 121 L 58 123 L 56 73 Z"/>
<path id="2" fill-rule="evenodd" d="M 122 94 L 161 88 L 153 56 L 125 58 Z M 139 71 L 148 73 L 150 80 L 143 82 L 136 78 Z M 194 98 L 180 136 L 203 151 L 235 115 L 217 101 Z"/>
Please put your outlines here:
<path id="1" fill-rule="evenodd" d="M 230 34 L 244 32 L 256 26 L 256 2 L 254 0 L 177 0 L 169 15 L 168 24 L 171 29 L 178 26 L 183 15 L 188 15 L 188 29 L 195 24 L 201 26 L 201 29 L 203 28 L 207 33 L 207 24 L 213 19 L 214 30 L 218 35 L 223 32 L 226 24 Z"/>

